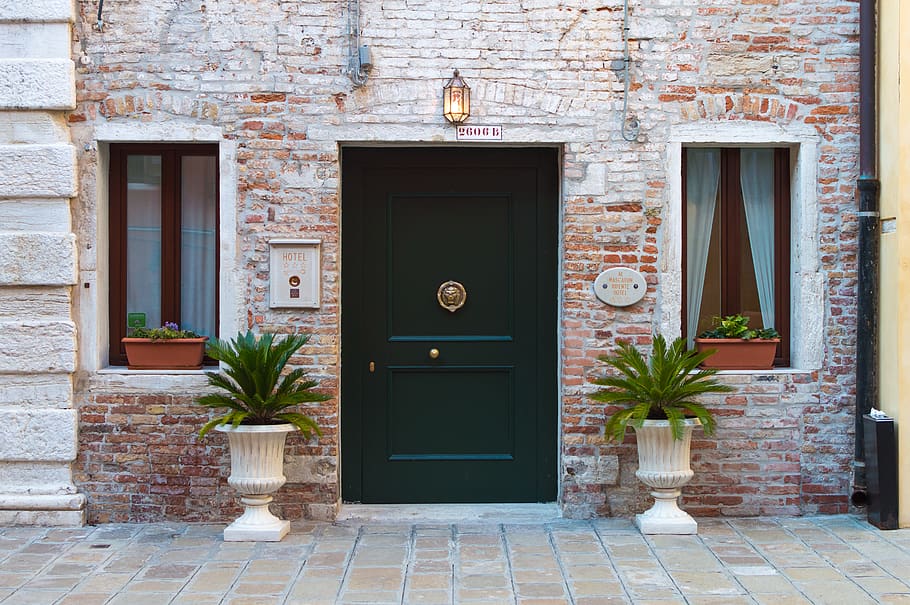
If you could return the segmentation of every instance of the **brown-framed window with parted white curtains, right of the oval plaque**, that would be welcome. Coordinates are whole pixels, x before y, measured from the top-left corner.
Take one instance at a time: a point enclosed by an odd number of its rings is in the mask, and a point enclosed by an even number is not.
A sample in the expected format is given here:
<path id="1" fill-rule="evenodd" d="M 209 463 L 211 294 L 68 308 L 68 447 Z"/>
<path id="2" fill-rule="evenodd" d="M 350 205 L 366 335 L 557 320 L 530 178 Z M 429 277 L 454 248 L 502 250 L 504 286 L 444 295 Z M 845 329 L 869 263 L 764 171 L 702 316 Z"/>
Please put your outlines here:
<path id="1" fill-rule="evenodd" d="M 683 333 L 741 313 L 781 333 L 775 363 L 789 364 L 789 149 L 690 147 L 682 160 Z"/>

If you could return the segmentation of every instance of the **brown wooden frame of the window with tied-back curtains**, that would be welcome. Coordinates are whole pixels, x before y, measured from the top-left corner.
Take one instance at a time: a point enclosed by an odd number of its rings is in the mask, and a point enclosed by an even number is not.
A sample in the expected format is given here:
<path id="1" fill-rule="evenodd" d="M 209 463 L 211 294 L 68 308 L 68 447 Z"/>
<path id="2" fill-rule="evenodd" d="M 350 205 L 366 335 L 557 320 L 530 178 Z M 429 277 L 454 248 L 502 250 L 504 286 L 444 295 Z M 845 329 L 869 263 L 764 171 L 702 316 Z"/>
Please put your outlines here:
<path id="1" fill-rule="evenodd" d="M 682 307 L 680 319 L 683 337 L 688 336 L 686 325 L 686 154 L 682 153 Z M 742 189 L 739 181 L 739 147 L 720 147 L 720 183 L 718 195 L 721 225 L 739 225 L 742 216 Z M 774 148 L 774 308 L 776 323 L 780 332 L 780 344 L 774 358 L 774 365 L 790 365 L 790 149 Z M 739 262 L 733 251 L 740 250 L 740 237 L 735 229 L 721 234 L 721 313 L 733 315 L 741 312 L 739 301 Z M 735 259 L 735 260 L 734 260 Z"/>

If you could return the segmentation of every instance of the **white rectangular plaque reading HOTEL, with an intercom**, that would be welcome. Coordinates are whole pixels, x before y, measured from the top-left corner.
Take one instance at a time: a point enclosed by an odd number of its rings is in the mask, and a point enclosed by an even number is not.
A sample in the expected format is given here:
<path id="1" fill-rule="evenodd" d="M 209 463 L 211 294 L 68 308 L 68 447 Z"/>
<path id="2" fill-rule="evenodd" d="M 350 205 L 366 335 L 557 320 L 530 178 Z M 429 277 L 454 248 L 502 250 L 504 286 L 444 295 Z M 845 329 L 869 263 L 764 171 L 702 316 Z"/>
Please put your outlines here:
<path id="1" fill-rule="evenodd" d="M 318 239 L 269 240 L 269 307 L 318 309 Z"/>

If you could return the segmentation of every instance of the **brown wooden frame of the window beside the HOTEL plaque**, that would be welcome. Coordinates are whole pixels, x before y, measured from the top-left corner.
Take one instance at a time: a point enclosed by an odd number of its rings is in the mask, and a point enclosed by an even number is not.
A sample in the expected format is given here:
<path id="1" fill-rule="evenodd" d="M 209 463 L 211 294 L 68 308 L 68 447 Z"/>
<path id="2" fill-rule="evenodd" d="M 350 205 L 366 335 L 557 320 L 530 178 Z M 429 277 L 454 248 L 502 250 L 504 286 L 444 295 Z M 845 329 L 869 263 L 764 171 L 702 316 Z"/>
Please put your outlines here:
<path id="1" fill-rule="evenodd" d="M 180 183 L 181 158 L 213 156 L 215 182 L 219 183 L 218 145 L 214 143 L 112 143 L 109 148 L 109 256 L 110 291 L 109 325 L 110 365 L 125 366 L 126 351 L 120 339 L 126 336 L 126 200 L 127 157 L 158 155 L 161 157 L 161 317 L 180 323 Z M 220 187 L 215 188 L 215 240 L 220 241 L 217 208 Z M 215 248 L 215 326 L 219 324 L 220 300 L 217 284 L 221 269 L 218 246 Z M 155 327 L 155 326 L 149 326 Z M 213 335 L 217 336 L 217 334 Z M 206 365 L 214 360 L 206 358 Z"/>

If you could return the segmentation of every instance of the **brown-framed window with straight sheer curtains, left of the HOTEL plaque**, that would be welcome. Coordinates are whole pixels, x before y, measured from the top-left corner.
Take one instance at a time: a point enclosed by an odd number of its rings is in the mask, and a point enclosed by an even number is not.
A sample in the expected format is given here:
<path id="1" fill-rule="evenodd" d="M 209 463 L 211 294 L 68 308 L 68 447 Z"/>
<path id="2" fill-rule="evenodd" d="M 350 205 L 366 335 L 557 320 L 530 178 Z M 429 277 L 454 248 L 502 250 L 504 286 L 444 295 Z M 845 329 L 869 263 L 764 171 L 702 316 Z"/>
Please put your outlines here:
<path id="1" fill-rule="evenodd" d="M 112 144 L 109 182 L 110 363 L 129 326 L 217 336 L 218 146 Z"/>

